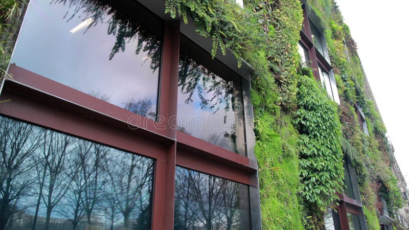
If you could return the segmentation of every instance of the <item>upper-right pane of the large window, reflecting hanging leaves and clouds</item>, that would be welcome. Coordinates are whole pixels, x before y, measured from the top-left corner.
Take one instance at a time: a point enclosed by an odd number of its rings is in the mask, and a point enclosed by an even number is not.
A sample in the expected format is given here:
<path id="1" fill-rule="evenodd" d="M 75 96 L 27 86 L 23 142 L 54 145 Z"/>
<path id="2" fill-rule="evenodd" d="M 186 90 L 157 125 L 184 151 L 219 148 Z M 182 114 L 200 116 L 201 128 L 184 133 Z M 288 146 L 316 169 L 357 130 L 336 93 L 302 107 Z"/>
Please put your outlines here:
<path id="1" fill-rule="evenodd" d="M 178 129 L 245 155 L 241 92 L 238 77 L 225 80 L 187 55 L 180 54 Z"/>

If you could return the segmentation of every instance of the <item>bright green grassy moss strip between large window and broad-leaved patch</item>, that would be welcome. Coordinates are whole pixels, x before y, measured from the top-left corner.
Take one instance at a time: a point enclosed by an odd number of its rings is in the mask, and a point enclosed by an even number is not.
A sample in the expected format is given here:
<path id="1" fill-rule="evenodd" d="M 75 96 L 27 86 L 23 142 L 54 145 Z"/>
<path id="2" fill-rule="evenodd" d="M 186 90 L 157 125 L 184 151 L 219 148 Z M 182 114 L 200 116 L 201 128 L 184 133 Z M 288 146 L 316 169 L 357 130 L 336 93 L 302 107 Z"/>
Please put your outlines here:
<path id="1" fill-rule="evenodd" d="M 267 113 L 256 120 L 263 229 L 303 229 L 297 197 L 298 134 L 288 116 L 277 121 Z"/>

